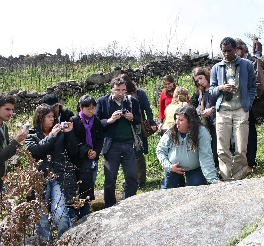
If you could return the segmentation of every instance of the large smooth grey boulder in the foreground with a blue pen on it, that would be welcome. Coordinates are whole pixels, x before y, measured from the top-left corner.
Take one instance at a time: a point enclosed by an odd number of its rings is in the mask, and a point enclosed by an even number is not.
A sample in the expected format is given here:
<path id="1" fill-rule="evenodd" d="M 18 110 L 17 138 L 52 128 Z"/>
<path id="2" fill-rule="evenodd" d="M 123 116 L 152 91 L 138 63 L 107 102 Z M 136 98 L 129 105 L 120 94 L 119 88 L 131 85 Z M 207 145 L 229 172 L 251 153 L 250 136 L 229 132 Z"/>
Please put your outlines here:
<path id="1" fill-rule="evenodd" d="M 83 217 L 66 233 L 87 233 L 86 242 L 96 236 L 93 245 L 225 245 L 231 232 L 238 237 L 263 213 L 263 184 L 256 178 L 139 194 Z"/>

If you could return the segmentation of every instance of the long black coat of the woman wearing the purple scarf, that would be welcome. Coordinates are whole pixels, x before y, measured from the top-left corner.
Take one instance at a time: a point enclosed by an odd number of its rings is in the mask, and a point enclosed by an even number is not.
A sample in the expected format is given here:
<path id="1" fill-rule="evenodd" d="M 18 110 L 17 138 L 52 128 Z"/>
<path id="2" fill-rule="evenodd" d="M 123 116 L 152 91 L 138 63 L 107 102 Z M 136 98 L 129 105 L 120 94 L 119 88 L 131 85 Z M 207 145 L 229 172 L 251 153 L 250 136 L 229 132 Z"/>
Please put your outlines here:
<path id="1" fill-rule="evenodd" d="M 73 163 L 78 166 L 78 169 L 76 170 L 77 180 L 82 180 L 82 183 L 79 184 L 79 194 L 82 194 L 82 199 L 89 196 L 91 200 L 94 200 L 93 172 L 91 170 L 92 162 L 87 157 L 88 150 L 91 149 L 91 146 L 86 144 L 86 131 L 79 113 L 76 113 L 75 116 L 71 117 L 69 122 L 73 122 L 74 134 L 76 135 L 76 141 L 79 146 L 79 152 L 76 158 L 72 159 Z M 93 150 L 95 150 L 97 154 L 95 160 L 98 160 L 103 147 L 103 130 L 101 121 L 95 115 L 91 128 L 91 136 Z"/>

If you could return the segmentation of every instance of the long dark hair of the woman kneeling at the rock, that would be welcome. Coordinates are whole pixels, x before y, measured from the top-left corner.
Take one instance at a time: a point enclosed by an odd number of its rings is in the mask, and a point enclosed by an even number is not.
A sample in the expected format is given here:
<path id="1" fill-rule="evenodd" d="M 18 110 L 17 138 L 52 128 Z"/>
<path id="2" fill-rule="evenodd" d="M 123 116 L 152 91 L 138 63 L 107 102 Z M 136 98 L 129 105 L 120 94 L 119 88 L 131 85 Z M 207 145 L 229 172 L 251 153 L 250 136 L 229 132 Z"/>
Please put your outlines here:
<path id="1" fill-rule="evenodd" d="M 190 145 L 190 148 L 188 149 L 188 151 L 192 150 L 195 152 L 195 150 L 199 144 L 198 127 L 199 127 L 199 125 L 201 125 L 195 108 L 192 105 L 181 106 L 176 110 L 176 112 L 174 114 L 175 122 L 169 128 L 168 136 L 169 136 L 170 140 L 175 145 L 177 145 L 177 147 L 179 147 L 180 141 L 178 138 L 176 115 L 183 115 L 188 120 L 188 123 L 190 124 L 189 131 L 188 131 L 189 132 L 188 141 L 191 142 L 191 145 Z"/>

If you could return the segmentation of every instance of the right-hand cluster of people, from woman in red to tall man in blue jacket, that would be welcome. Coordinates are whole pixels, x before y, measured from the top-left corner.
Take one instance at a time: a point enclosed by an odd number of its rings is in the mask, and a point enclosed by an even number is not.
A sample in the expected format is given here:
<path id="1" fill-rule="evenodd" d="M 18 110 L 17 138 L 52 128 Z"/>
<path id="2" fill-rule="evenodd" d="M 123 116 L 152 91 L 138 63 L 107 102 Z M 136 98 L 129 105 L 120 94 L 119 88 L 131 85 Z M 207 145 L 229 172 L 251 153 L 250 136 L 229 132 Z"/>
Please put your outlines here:
<path id="1" fill-rule="evenodd" d="M 260 60 L 248 54 L 241 39 L 226 37 L 220 48 L 224 55 L 220 63 L 208 69 L 193 69 L 195 93 L 190 105 L 183 106 L 188 96 L 185 88 L 175 86 L 171 78 L 163 79 L 165 90 L 159 110 L 163 136 L 156 149 L 165 169 L 162 189 L 176 188 L 184 174 L 188 185 L 243 179 L 256 164 L 256 118 L 264 115 L 263 67 Z M 175 99 L 182 96 L 185 98 L 177 101 L 178 105 L 182 103 L 178 108 Z M 178 109 L 171 112 L 172 108 Z M 207 127 L 199 121 L 201 114 L 207 118 Z M 166 122 L 170 122 L 169 127 Z M 232 139 L 234 144 L 230 144 Z"/>

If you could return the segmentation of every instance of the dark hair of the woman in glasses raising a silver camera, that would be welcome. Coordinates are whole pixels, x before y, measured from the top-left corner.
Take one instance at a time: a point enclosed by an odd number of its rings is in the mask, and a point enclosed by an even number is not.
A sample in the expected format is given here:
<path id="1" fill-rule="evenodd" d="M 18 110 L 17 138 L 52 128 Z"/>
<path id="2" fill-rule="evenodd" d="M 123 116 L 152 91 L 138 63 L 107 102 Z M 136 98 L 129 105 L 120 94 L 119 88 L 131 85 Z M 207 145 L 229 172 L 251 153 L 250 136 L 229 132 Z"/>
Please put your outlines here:
<path id="1" fill-rule="evenodd" d="M 54 113 L 54 117 L 55 117 L 54 121 L 53 121 L 53 125 L 52 125 L 52 127 L 50 127 L 50 130 L 51 130 L 53 128 L 53 126 L 55 126 L 57 124 L 56 113 L 55 113 L 55 110 L 53 107 L 51 107 L 48 104 L 43 103 L 36 108 L 34 116 L 33 116 L 33 124 L 35 126 L 39 127 L 39 129 L 43 133 L 45 132 L 45 129 L 43 127 L 44 118 L 50 111 Z"/>

